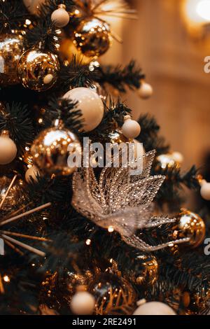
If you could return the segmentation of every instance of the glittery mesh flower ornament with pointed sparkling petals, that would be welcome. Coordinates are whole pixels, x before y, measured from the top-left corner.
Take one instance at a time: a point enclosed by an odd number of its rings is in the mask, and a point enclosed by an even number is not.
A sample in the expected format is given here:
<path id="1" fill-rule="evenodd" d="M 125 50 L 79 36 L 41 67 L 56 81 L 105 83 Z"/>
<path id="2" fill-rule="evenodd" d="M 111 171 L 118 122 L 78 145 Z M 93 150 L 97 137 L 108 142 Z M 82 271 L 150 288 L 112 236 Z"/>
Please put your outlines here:
<path id="1" fill-rule="evenodd" d="M 176 218 L 153 217 L 153 200 L 164 176 L 150 176 L 155 151 L 143 155 L 141 174 L 132 176 L 132 167 L 104 168 L 97 181 L 92 168 L 78 169 L 73 174 L 73 207 L 95 224 L 112 232 L 116 230 L 130 246 L 142 251 L 155 251 L 188 239 L 150 246 L 135 232 L 143 228 L 174 223 Z"/>

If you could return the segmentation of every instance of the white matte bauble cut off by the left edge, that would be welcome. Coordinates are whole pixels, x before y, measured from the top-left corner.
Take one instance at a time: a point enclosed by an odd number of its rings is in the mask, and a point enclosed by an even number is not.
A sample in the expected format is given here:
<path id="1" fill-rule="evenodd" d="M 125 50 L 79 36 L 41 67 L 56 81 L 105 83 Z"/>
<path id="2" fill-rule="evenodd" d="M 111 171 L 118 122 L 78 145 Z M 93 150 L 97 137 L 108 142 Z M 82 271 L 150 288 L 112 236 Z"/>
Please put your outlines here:
<path id="1" fill-rule="evenodd" d="M 17 155 L 17 146 L 9 137 L 7 131 L 3 131 L 0 136 L 0 165 L 8 165 L 13 162 Z"/>

